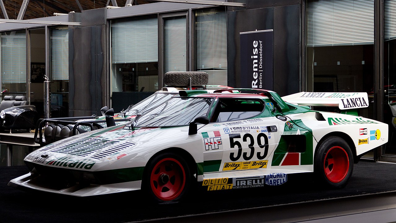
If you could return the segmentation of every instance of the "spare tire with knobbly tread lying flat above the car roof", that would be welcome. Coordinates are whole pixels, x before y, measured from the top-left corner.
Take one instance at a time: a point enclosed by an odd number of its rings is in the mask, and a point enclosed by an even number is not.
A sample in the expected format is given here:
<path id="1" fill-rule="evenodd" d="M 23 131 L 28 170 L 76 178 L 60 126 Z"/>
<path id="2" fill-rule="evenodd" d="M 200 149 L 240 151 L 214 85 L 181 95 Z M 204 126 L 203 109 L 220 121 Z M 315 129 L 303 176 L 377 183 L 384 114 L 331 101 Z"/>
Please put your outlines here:
<path id="1" fill-rule="evenodd" d="M 207 85 L 208 73 L 203 71 L 167 72 L 164 75 L 165 86 Z"/>

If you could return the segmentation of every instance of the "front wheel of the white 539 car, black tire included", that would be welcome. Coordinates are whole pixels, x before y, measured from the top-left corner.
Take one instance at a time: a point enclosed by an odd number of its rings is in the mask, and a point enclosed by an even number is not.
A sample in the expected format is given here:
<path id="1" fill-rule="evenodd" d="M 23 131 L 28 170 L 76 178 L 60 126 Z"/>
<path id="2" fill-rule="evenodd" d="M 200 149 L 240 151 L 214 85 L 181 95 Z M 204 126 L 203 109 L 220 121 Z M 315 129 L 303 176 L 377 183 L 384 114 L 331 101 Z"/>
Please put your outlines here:
<path id="1" fill-rule="evenodd" d="M 156 204 L 177 203 L 188 196 L 191 179 L 187 162 L 178 154 L 165 152 L 148 161 L 142 190 Z"/>

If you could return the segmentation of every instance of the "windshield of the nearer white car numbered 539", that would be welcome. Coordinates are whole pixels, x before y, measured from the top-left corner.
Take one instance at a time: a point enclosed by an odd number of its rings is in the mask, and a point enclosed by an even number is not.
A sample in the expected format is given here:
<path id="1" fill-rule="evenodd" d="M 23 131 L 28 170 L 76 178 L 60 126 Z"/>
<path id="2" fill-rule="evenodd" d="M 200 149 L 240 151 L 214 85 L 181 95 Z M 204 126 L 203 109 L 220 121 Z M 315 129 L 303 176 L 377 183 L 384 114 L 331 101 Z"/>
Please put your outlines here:
<path id="1" fill-rule="evenodd" d="M 168 127 L 188 125 L 195 117 L 206 115 L 213 98 L 170 98 L 137 117 L 135 127 Z"/>

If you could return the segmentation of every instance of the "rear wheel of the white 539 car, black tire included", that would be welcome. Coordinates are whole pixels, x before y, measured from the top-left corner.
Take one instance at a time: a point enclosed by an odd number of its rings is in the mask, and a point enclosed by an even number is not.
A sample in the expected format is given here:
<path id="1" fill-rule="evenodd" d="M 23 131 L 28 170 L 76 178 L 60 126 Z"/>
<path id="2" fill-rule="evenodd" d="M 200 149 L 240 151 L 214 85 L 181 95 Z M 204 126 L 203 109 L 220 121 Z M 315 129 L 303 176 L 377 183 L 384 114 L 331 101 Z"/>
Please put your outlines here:
<path id="1" fill-rule="evenodd" d="M 338 136 L 321 140 L 314 159 L 318 183 L 330 188 L 343 188 L 353 171 L 353 155 L 346 141 Z"/>

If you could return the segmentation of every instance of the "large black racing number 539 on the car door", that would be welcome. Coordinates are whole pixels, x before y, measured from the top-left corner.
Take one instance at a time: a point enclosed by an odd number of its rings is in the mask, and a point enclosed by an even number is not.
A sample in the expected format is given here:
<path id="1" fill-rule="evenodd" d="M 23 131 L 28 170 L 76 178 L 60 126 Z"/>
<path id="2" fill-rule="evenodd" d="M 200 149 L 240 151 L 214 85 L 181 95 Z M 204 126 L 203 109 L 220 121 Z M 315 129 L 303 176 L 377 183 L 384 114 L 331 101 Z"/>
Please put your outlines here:
<path id="1" fill-rule="evenodd" d="M 242 144 L 240 143 L 240 141 L 238 141 L 238 138 L 241 138 L 241 134 L 229 134 L 230 136 L 230 147 L 231 148 L 235 148 L 235 146 L 237 146 L 238 148 L 238 154 L 236 154 L 236 156 L 234 156 L 234 152 L 230 153 L 230 160 L 231 161 L 237 161 L 241 158 L 241 156 L 243 156 L 244 160 L 251 160 L 251 158 L 253 158 L 253 156 L 255 155 L 255 151 L 254 151 L 254 144 L 255 144 L 255 140 L 254 137 L 249 134 L 246 133 L 243 137 L 242 137 L 242 141 L 247 142 L 247 139 L 249 138 L 249 149 L 250 149 L 250 153 L 249 155 L 247 155 L 247 152 L 244 152 L 242 154 Z M 264 143 L 261 143 L 262 140 L 264 139 Z M 268 137 L 267 135 L 265 135 L 264 133 L 259 133 L 257 135 L 257 144 L 260 148 L 264 148 L 264 154 L 261 155 L 261 152 L 257 152 L 256 156 L 258 160 L 264 160 L 264 158 L 267 156 L 268 154 Z"/>

